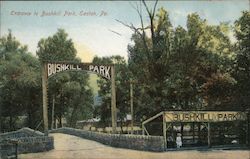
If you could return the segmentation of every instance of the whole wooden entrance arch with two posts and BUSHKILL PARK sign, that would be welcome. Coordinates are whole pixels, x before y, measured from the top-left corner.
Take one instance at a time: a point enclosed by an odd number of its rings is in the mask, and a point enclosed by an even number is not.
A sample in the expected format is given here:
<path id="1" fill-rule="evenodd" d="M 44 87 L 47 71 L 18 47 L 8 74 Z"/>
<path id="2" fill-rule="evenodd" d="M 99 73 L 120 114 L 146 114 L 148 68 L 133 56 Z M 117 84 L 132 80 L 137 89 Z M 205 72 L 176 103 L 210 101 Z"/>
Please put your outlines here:
<path id="1" fill-rule="evenodd" d="M 113 64 L 96 65 L 92 63 L 44 62 L 42 68 L 44 134 L 48 135 L 48 78 L 63 71 L 87 71 L 98 74 L 101 77 L 111 81 L 112 132 L 116 133 L 116 89 L 115 68 Z"/>

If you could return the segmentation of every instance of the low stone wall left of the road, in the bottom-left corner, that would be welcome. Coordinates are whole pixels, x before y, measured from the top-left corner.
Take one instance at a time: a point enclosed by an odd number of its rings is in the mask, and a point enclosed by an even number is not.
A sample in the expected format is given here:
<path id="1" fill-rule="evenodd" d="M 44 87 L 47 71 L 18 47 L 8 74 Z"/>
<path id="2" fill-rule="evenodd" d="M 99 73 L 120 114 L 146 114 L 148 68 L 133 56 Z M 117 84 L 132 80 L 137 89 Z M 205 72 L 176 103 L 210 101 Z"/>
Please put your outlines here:
<path id="1" fill-rule="evenodd" d="M 54 148 L 54 138 L 44 136 L 39 131 L 34 131 L 29 128 L 22 128 L 17 131 L 0 134 L 0 156 L 13 155 L 17 153 L 32 153 L 48 151 Z"/>

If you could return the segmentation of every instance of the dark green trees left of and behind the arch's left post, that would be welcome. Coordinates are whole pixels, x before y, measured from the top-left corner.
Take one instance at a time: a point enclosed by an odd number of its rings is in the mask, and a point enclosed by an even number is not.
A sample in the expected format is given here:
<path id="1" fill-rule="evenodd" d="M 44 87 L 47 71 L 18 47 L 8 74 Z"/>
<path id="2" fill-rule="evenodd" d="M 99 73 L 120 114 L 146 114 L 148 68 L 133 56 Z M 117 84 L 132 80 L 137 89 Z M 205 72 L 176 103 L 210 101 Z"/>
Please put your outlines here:
<path id="1" fill-rule="evenodd" d="M 28 52 L 11 31 L 0 39 L 1 131 L 23 126 L 43 130 L 41 66 L 47 61 L 80 62 L 71 39 L 63 29 L 38 43 L 38 58 Z M 92 118 L 93 95 L 89 76 L 84 72 L 62 72 L 49 79 L 49 124 Z M 52 110 L 52 106 L 54 109 Z M 54 122 L 55 123 L 55 122 Z"/>

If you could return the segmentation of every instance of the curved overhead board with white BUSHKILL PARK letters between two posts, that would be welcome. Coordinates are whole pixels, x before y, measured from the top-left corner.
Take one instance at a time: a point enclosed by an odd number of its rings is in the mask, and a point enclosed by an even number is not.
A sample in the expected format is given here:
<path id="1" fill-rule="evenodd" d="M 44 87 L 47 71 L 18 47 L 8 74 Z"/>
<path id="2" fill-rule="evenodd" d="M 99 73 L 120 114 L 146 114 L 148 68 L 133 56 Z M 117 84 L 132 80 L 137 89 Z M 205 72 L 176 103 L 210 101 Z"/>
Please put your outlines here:
<path id="1" fill-rule="evenodd" d="M 108 80 L 111 79 L 111 67 L 113 65 L 96 65 L 92 63 L 47 63 L 47 75 L 52 75 L 62 71 L 87 71 L 98 74 Z"/>

